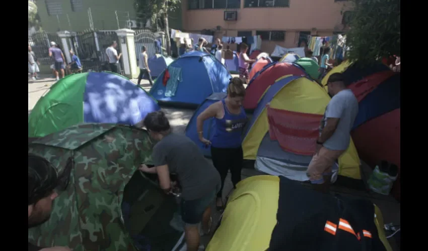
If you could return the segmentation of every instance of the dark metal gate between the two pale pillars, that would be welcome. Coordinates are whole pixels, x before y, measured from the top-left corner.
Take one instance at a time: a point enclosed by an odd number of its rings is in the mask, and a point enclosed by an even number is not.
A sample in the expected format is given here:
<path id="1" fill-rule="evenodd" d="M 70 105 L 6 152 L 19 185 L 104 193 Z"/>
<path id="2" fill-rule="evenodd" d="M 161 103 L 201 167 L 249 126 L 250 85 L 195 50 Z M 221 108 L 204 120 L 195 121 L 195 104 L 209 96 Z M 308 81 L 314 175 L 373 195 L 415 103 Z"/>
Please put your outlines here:
<path id="1" fill-rule="evenodd" d="M 72 41 L 84 71 L 110 70 L 106 49 L 113 41 L 118 44 L 117 54 L 120 53 L 120 41 L 115 31 L 85 31 L 77 33 L 72 37 Z M 119 63 L 123 69 L 122 58 Z"/>

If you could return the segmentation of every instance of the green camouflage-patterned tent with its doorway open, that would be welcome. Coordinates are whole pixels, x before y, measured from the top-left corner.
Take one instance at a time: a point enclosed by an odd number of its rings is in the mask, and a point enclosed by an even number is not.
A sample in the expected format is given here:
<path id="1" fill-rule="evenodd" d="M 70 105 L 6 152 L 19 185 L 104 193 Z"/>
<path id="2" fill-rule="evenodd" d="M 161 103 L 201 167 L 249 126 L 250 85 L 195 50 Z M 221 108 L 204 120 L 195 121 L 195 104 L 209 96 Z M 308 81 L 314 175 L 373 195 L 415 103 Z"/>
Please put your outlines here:
<path id="1" fill-rule="evenodd" d="M 174 198 L 135 172 L 140 163 L 151 164 L 153 143 L 147 131 L 80 124 L 34 140 L 28 147 L 29 152 L 49 160 L 58 173 L 70 160 L 73 163 L 68 185 L 54 200 L 49 220 L 28 229 L 30 242 L 64 245 L 75 251 L 176 250 L 174 246 L 180 245 L 177 242 L 183 234 L 168 224 L 176 206 Z M 160 224 L 155 217 L 165 222 Z"/>

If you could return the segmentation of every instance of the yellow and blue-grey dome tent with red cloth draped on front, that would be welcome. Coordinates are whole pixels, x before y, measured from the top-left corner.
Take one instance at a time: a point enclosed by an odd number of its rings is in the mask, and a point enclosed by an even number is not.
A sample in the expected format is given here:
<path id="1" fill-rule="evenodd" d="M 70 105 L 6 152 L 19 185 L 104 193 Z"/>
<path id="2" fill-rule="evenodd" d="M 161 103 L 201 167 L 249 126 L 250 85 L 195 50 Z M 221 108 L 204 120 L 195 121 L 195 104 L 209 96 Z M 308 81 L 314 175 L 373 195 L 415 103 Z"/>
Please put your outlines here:
<path id="1" fill-rule="evenodd" d="M 319 121 L 329 100 L 323 88 L 309 78 L 284 76 L 275 81 L 248 124 L 242 142 L 244 159 L 255 160 L 256 169 L 267 174 L 308 180 L 306 170 L 315 151 Z M 278 123 L 281 126 L 275 126 Z M 299 129 L 288 130 L 296 124 Z M 281 139 L 287 139 L 287 144 Z M 352 140 L 339 158 L 337 174 L 361 181 L 360 159 Z"/>

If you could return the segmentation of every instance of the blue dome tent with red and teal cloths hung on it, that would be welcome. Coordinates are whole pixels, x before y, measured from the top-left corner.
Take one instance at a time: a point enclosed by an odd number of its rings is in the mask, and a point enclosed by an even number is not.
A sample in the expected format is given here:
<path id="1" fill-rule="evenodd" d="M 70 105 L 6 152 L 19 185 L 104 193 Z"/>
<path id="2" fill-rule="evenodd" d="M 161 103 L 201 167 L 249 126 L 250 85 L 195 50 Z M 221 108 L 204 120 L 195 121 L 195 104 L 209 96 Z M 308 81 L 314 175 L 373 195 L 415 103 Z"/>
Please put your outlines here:
<path id="1" fill-rule="evenodd" d="M 164 83 L 165 74 L 168 80 Z M 229 71 L 215 57 L 193 51 L 172 62 L 149 93 L 161 103 L 197 106 L 213 92 L 226 92 L 230 78 Z"/>

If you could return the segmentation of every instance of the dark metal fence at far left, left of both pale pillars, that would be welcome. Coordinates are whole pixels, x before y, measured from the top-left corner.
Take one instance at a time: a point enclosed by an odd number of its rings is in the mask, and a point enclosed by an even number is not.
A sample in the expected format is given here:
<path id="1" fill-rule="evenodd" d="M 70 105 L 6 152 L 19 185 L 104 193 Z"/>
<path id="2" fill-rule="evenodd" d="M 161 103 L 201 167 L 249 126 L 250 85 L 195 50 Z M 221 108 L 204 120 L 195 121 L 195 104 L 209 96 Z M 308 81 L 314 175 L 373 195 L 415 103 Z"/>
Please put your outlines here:
<path id="1" fill-rule="evenodd" d="M 28 45 L 31 46 L 37 60 L 42 65 L 53 64 L 53 59 L 49 57 L 50 42 L 55 42 L 61 48 L 61 41 L 56 33 L 40 31 L 28 36 Z"/>

